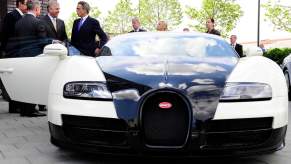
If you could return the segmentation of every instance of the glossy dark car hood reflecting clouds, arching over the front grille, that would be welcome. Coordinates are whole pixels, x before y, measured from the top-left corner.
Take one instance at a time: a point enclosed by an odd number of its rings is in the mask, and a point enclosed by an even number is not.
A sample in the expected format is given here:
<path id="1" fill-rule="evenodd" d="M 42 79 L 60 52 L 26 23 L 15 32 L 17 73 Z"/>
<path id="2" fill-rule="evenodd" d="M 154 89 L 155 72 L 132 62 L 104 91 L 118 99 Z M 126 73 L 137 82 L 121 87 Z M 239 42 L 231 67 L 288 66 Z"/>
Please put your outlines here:
<path id="1" fill-rule="evenodd" d="M 120 118 L 138 115 L 138 102 L 147 91 L 174 88 L 187 96 L 193 118 L 214 117 L 220 94 L 237 58 L 193 56 L 102 56 L 97 62 L 107 79 Z"/>

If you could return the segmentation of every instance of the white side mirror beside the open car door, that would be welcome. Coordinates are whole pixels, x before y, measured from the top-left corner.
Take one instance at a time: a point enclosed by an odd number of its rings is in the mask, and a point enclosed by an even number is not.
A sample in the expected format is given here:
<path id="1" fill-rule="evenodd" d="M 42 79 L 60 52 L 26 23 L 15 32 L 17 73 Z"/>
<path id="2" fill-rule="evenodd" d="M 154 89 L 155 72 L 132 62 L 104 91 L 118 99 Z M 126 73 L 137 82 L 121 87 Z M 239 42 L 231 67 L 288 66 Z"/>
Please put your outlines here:
<path id="1" fill-rule="evenodd" d="M 66 58 L 68 50 L 62 44 L 49 44 L 44 47 L 43 54 L 45 56 L 59 56 L 60 59 Z"/>

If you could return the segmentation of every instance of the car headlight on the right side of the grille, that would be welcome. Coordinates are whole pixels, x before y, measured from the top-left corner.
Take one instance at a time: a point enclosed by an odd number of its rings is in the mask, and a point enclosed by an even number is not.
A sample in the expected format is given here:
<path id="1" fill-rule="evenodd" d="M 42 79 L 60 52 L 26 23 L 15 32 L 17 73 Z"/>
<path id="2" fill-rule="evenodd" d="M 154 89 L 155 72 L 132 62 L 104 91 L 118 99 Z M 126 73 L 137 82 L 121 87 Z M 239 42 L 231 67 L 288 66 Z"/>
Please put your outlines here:
<path id="1" fill-rule="evenodd" d="M 227 83 L 220 102 L 264 101 L 272 99 L 272 88 L 264 83 Z"/>

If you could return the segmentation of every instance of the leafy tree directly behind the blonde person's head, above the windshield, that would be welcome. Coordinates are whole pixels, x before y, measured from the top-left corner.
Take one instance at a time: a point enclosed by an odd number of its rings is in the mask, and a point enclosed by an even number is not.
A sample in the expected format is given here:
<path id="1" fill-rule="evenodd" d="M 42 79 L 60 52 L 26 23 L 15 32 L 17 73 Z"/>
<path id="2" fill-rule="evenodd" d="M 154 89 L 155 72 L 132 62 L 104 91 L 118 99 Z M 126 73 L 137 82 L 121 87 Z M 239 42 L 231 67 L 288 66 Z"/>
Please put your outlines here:
<path id="1" fill-rule="evenodd" d="M 147 30 L 155 30 L 159 20 L 166 21 L 168 28 L 174 29 L 183 18 L 178 0 L 139 0 L 137 11 L 142 26 Z"/>

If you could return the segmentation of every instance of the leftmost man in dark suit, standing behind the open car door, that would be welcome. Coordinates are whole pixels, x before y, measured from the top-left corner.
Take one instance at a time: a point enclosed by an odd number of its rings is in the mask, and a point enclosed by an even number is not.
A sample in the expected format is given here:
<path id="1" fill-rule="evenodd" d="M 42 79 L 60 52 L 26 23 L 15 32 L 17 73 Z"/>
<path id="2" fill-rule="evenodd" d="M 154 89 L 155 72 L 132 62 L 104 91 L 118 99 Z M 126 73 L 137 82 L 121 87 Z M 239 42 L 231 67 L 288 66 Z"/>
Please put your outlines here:
<path id="1" fill-rule="evenodd" d="M 27 12 L 26 2 L 27 0 L 16 0 L 16 8 L 4 17 L 0 47 L 0 52 L 3 51 L 4 54 L 3 57 L 5 57 L 8 40 L 15 35 L 14 29 L 16 22 Z M 9 113 L 18 113 L 19 106 L 20 103 L 16 101 L 9 101 Z"/>

